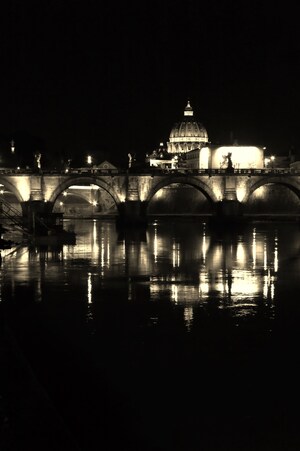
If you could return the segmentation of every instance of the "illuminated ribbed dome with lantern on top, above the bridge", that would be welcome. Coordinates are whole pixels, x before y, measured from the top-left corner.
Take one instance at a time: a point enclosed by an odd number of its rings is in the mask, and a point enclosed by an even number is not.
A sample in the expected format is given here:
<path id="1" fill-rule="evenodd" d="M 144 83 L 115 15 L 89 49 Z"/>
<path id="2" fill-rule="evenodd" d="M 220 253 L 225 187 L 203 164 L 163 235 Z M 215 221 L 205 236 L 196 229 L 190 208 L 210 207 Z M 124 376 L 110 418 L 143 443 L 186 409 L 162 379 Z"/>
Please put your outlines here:
<path id="1" fill-rule="evenodd" d="M 200 122 L 194 121 L 193 116 L 193 109 L 190 102 L 188 102 L 182 121 L 177 122 L 171 130 L 168 152 L 186 153 L 190 150 L 200 148 L 208 142 L 206 129 Z"/>

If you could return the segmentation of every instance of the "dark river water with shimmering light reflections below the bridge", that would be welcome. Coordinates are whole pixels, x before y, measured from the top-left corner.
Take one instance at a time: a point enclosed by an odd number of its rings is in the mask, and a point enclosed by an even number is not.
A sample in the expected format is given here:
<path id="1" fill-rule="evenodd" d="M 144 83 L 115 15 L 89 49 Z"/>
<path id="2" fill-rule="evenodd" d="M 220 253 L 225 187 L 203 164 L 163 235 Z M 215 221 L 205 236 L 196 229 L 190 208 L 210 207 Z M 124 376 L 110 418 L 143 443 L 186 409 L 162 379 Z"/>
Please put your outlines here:
<path id="1" fill-rule="evenodd" d="M 0 302 L 80 450 L 299 451 L 299 225 L 65 228 L 3 258 Z"/>

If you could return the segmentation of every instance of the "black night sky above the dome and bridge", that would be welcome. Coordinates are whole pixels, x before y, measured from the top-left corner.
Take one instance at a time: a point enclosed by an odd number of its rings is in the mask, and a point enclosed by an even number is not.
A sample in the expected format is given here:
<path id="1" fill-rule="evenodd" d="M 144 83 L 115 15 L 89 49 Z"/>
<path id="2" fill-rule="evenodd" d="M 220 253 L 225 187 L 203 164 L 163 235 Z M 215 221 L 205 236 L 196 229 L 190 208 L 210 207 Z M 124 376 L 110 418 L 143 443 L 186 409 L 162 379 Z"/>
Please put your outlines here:
<path id="1" fill-rule="evenodd" d="M 11 0 L 0 18 L 2 142 L 27 134 L 48 155 L 144 156 L 190 99 L 213 143 L 300 148 L 291 5 Z"/>

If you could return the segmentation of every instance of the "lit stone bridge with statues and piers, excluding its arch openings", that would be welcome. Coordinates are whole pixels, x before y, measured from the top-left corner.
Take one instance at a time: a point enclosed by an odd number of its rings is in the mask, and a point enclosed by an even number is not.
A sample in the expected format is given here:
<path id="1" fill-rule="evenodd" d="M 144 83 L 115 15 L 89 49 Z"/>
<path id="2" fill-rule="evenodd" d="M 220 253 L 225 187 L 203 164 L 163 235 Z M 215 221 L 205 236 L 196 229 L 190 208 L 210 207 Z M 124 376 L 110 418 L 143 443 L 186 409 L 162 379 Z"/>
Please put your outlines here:
<path id="1" fill-rule="evenodd" d="M 15 195 L 23 216 L 33 210 L 42 216 L 50 215 L 58 196 L 70 186 L 93 184 L 111 196 L 120 217 L 135 222 L 145 218 L 147 206 L 155 193 L 174 183 L 198 189 L 225 215 L 237 214 L 252 193 L 268 184 L 283 185 L 300 199 L 300 172 L 288 168 L 239 169 L 230 174 L 226 169 L 148 170 L 139 173 L 88 168 L 73 169 L 68 173 L 0 171 L 0 184 Z"/>

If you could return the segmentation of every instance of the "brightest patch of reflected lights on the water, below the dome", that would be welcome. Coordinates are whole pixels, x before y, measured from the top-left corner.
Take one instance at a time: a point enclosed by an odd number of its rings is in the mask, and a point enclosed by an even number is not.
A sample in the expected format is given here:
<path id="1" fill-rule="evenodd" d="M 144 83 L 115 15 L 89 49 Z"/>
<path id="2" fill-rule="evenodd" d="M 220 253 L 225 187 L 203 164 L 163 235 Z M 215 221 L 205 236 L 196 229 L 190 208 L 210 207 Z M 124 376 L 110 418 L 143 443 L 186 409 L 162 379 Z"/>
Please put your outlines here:
<path id="1" fill-rule="evenodd" d="M 235 315 L 253 315 L 261 299 L 273 302 L 278 271 L 276 230 L 253 227 L 243 235 L 215 237 L 201 224 L 186 235 L 175 233 L 172 245 L 170 239 L 157 226 L 153 240 L 149 232 L 149 246 L 155 243 L 156 273 L 150 278 L 150 294 L 152 300 L 159 300 L 169 293 L 175 304 L 188 304 L 189 313 L 184 313 L 187 325 L 193 318 L 192 306 L 212 298 L 219 301 L 219 308 L 234 308 Z M 171 272 L 165 271 L 168 259 Z"/>

